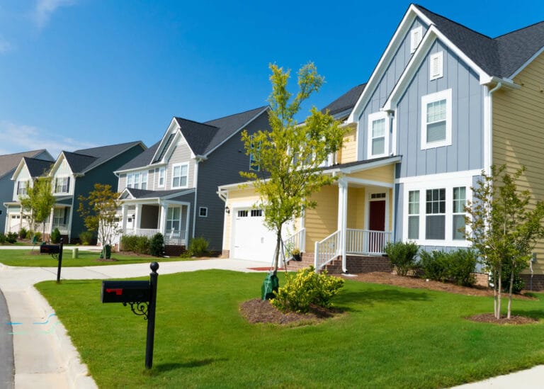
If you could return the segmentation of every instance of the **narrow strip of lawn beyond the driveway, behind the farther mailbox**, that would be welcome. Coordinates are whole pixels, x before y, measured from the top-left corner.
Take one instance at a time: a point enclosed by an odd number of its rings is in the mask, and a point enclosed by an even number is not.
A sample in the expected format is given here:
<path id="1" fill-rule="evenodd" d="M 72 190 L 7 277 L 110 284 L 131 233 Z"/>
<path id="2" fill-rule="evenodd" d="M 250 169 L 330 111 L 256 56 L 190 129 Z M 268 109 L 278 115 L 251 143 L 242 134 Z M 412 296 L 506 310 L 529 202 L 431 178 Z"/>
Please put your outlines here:
<path id="1" fill-rule="evenodd" d="M 77 266 L 101 266 L 101 265 L 123 265 L 123 264 L 140 264 L 154 261 L 153 256 L 130 256 L 116 252 L 111 253 L 111 257 L 116 261 L 98 261 L 99 252 L 84 252 L 79 250 L 79 258 L 72 259 L 72 247 L 62 251 L 62 267 L 77 267 Z M 182 261 L 183 258 L 173 256 L 171 258 L 161 258 L 161 262 L 166 261 Z M 54 259 L 50 254 L 40 254 L 40 247 L 36 246 L 31 252 L 30 249 L 6 249 L 0 250 L 0 263 L 7 266 L 36 266 L 47 267 L 57 266 L 57 259 Z"/>

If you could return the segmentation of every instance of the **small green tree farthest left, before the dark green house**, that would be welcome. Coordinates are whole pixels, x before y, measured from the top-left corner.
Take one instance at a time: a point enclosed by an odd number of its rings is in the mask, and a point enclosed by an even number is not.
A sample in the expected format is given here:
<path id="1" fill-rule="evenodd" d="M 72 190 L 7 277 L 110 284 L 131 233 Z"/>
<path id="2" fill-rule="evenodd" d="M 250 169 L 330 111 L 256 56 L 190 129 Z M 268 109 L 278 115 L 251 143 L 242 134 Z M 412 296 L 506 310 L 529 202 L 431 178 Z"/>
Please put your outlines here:
<path id="1" fill-rule="evenodd" d="M 51 215 L 56 199 L 51 188 L 51 177 L 39 177 L 27 188 L 26 196 L 19 196 L 21 208 L 30 216 L 30 225 L 35 231 L 36 225 L 42 225 L 42 237 L 45 236 L 45 222 Z"/>

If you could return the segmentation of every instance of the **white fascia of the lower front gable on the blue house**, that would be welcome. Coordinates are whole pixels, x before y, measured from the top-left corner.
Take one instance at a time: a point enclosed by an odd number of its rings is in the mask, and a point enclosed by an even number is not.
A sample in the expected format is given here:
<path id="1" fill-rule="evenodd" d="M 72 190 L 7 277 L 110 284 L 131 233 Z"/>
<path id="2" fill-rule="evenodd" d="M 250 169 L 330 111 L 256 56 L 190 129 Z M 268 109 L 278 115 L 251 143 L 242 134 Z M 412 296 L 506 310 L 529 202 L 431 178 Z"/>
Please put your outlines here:
<path id="1" fill-rule="evenodd" d="M 402 72 L 399 78 L 399 81 L 397 81 L 395 88 L 391 91 L 389 98 L 387 98 L 387 101 L 385 101 L 385 104 L 382 107 L 383 111 L 392 111 L 395 109 L 400 96 L 402 96 L 404 91 L 407 89 L 408 85 L 419 69 L 419 65 L 421 65 L 421 63 L 425 60 L 427 52 L 429 52 L 431 46 L 437 40 L 446 45 L 446 47 L 457 55 L 460 60 L 465 62 L 478 74 L 478 77 L 480 77 L 480 84 L 487 84 L 492 79 L 489 74 L 484 72 L 479 66 L 477 66 L 477 64 L 475 64 L 474 61 L 467 57 L 463 51 L 461 51 L 448 38 L 446 38 L 446 36 L 443 35 L 443 33 L 441 33 L 436 26 L 432 25 L 429 27 L 429 30 L 427 30 L 423 40 L 421 40 L 421 43 L 419 43 L 419 47 L 417 47 L 416 52 L 414 52 L 414 55 L 412 55 L 412 58 L 409 60 L 404 72 Z"/>

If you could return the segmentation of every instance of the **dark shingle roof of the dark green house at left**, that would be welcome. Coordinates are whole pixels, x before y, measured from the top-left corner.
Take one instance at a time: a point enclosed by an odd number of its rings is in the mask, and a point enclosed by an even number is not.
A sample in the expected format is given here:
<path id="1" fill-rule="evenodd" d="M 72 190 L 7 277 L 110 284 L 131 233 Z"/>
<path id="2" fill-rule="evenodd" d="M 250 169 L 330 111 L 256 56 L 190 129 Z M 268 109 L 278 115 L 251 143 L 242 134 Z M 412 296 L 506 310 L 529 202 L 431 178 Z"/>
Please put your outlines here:
<path id="1" fill-rule="evenodd" d="M 118 145 L 81 149 L 74 152 L 63 151 L 61 154 L 64 155 L 64 159 L 69 164 L 72 173 L 83 174 L 137 145 L 141 145 L 145 150 L 145 145 L 140 140 L 137 140 Z"/>

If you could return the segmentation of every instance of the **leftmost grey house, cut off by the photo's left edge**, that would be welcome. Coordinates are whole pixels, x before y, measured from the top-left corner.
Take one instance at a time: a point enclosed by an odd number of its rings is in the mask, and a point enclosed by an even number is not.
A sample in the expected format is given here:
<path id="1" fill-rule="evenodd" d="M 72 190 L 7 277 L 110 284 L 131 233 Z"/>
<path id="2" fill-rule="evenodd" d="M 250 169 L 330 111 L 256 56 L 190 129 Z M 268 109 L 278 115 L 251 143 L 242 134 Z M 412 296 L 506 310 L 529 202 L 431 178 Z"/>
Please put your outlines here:
<path id="1" fill-rule="evenodd" d="M 6 227 L 7 205 L 13 201 L 13 181 L 11 178 L 13 172 L 16 170 L 18 164 L 21 163 L 21 159 L 24 157 L 39 159 L 42 161 L 55 161 L 55 158 L 51 156 L 47 150 L 34 150 L 29 152 L 18 152 L 16 154 L 0 155 L 0 232 L 10 232 Z M 14 215 L 11 220 L 13 225 L 19 225 L 21 223 L 21 214 Z M 14 232 L 18 232 L 19 229 L 15 228 Z"/>

